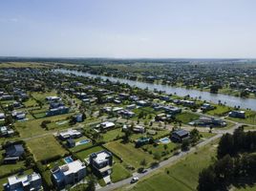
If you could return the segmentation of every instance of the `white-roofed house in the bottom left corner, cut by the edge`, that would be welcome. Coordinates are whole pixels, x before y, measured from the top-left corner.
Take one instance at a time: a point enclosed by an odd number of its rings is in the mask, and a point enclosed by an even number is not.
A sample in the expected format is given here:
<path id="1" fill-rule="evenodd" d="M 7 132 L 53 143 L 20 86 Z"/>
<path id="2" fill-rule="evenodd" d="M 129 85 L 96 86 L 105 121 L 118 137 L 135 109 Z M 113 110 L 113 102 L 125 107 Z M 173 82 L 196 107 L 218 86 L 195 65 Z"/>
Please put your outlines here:
<path id="1" fill-rule="evenodd" d="M 8 178 L 8 182 L 4 184 L 5 191 L 18 190 L 43 190 L 41 176 L 37 173 L 25 175 L 21 177 L 12 176 Z"/>

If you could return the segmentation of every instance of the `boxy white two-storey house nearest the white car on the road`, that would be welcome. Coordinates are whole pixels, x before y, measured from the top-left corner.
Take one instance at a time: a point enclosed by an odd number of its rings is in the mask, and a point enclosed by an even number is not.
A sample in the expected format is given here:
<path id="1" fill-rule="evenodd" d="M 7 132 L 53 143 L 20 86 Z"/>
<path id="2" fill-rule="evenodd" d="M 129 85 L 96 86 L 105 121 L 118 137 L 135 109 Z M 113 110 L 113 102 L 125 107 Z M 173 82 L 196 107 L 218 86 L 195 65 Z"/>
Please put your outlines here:
<path id="1" fill-rule="evenodd" d="M 90 155 L 90 165 L 96 174 L 102 177 L 108 176 L 112 172 L 113 155 L 109 151 L 103 150 Z"/>

